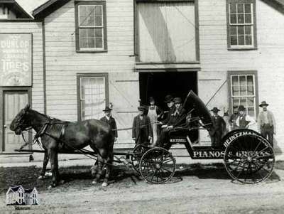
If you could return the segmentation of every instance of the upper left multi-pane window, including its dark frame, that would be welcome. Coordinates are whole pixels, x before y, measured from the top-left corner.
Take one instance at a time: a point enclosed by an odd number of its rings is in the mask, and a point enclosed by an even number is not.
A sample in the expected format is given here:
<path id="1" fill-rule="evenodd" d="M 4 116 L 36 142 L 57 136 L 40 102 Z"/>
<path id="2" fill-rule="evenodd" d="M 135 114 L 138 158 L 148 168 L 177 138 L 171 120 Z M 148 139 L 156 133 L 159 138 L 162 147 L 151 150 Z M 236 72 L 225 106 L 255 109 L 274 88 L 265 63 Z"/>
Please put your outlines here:
<path id="1" fill-rule="evenodd" d="M 107 51 L 105 1 L 75 1 L 76 50 Z"/>

